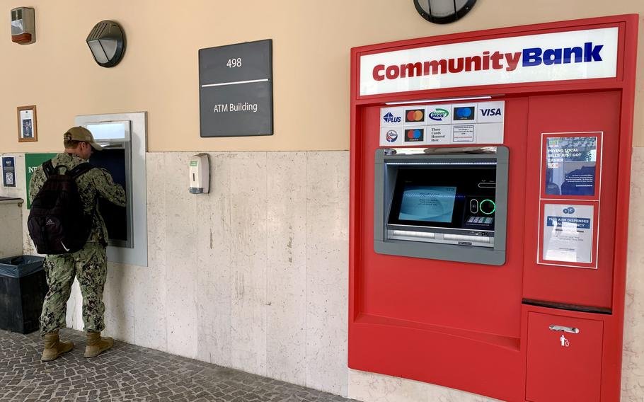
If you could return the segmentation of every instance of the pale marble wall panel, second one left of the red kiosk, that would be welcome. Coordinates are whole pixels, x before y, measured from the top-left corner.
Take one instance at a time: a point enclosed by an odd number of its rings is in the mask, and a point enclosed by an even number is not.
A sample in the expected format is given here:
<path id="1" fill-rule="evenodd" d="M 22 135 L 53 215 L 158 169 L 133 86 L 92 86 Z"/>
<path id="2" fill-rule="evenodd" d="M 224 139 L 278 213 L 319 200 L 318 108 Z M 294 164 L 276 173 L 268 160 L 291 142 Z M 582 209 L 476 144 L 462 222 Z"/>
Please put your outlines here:
<path id="1" fill-rule="evenodd" d="M 306 384 L 306 152 L 268 154 L 267 372 Z"/>

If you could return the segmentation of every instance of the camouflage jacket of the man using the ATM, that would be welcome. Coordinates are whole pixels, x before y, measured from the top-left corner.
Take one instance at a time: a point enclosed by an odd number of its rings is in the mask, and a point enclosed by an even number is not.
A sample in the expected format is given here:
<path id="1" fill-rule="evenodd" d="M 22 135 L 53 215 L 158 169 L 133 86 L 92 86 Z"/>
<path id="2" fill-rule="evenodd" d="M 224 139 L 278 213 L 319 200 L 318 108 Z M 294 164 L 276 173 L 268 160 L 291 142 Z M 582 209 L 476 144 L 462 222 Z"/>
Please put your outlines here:
<path id="1" fill-rule="evenodd" d="M 67 168 L 67 171 L 83 162 L 86 162 L 86 160 L 80 156 L 65 153 L 58 154 L 52 159 L 54 168 L 64 166 Z M 64 173 L 66 170 L 60 168 L 59 172 Z M 45 171 L 42 170 L 42 166 L 38 166 L 33 176 L 31 176 L 29 183 L 30 202 L 33 202 L 35 195 L 38 194 L 42 185 L 45 184 L 45 180 L 47 180 Z M 103 217 L 100 216 L 100 212 L 94 206 L 98 201 L 97 198 L 103 197 L 109 202 L 113 202 L 120 207 L 125 207 L 125 190 L 123 190 L 120 184 L 114 183 L 110 172 L 103 168 L 93 168 L 91 171 L 84 173 L 76 179 L 76 185 L 78 185 L 79 195 L 81 195 L 81 200 L 83 201 L 84 213 L 87 215 L 93 214 L 92 230 L 87 241 L 107 245 L 108 229 L 105 227 L 105 222 L 103 221 Z"/>

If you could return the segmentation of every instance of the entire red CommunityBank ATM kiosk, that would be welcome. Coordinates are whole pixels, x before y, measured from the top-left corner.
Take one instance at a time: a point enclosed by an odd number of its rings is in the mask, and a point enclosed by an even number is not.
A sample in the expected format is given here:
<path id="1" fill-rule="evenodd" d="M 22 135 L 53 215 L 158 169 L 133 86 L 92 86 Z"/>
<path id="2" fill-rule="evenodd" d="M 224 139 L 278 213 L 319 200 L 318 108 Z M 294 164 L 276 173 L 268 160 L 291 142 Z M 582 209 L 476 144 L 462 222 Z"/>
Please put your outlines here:
<path id="1" fill-rule="evenodd" d="M 352 50 L 349 367 L 619 401 L 637 24 Z"/>

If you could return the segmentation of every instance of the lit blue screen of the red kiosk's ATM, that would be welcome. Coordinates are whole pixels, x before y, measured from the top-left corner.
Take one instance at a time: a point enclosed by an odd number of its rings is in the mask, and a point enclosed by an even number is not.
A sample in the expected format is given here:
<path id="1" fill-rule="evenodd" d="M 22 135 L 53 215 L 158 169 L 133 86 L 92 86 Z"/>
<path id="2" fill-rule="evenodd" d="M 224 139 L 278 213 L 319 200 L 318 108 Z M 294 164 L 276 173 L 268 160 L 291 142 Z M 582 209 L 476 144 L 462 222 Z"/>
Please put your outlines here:
<path id="1" fill-rule="evenodd" d="M 403 190 L 401 221 L 452 222 L 456 187 L 406 185 Z"/>

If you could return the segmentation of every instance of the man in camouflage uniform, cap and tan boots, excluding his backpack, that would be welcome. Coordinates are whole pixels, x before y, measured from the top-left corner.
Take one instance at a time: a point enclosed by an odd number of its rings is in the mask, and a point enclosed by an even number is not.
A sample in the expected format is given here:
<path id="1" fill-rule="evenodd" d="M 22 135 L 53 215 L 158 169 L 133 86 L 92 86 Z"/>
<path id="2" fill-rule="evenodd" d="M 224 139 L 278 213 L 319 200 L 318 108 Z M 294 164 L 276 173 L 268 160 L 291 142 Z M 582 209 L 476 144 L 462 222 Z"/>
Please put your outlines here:
<path id="1" fill-rule="evenodd" d="M 52 165 L 61 173 L 71 171 L 84 163 L 93 153 L 93 149 L 102 149 L 94 142 L 94 137 L 84 127 L 71 127 L 63 134 L 65 150 L 52 159 Z M 33 173 L 30 181 L 30 200 L 33 202 L 42 185 L 47 180 L 42 166 Z M 93 168 L 76 179 L 79 195 L 84 205 L 84 213 L 92 216 L 92 229 L 81 250 L 75 253 L 47 255 L 45 273 L 49 292 L 45 296 L 40 315 L 40 335 L 45 337 L 45 349 L 42 361 L 55 360 L 59 355 L 74 348 L 71 342 L 61 342 L 58 330 L 65 328 L 67 299 L 71 293 L 74 277 L 79 280 L 83 295 L 83 322 L 87 335 L 85 357 L 94 357 L 113 345 L 112 338 L 100 336 L 105 329 L 103 314 L 103 288 L 107 277 L 107 258 L 105 248 L 108 245 L 108 230 L 103 217 L 95 205 L 98 197 L 125 207 L 125 190 L 115 184 L 108 171 Z"/>

